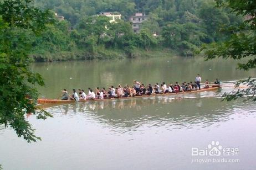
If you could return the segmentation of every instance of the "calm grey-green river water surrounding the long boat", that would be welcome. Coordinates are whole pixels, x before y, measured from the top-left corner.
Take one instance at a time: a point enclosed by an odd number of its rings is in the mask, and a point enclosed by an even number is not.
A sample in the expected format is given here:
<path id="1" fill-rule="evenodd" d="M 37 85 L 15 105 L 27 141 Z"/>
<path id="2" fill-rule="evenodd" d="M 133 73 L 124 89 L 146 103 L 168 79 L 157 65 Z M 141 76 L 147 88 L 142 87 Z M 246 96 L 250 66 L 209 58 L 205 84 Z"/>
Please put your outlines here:
<path id="1" fill-rule="evenodd" d="M 32 67 L 45 78 L 46 87 L 39 91 L 47 98 L 57 98 L 62 88 L 87 92 L 88 87 L 131 84 L 134 79 L 155 84 L 193 81 L 197 73 L 209 81 L 256 77 L 255 70 L 236 70 L 231 60 L 181 57 Z M 54 118 L 27 115 L 42 141 L 27 144 L 0 126 L 0 164 L 4 169 L 255 169 L 255 102 L 221 102 L 221 95 L 230 91 L 223 87 L 217 92 L 52 105 L 45 109 Z M 204 154 L 212 148 L 221 155 Z M 204 153 L 192 156 L 192 149 Z"/>

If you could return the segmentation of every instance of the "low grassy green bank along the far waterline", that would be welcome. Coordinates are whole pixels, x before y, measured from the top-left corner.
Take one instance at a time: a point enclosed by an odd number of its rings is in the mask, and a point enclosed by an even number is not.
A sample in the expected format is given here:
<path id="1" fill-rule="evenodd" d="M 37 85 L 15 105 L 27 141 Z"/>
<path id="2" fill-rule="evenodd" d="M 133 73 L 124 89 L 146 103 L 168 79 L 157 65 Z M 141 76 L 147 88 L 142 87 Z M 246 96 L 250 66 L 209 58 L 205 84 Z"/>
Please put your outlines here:
<path id="1" fill-rule="evenodd" d="M 177 56 L 177 52 L 170 49 L 134 49 L 130 54 L 124 50 L 98 48 L 95 52 L 84 50 L 58 51 L 55 53 L 44 52 L 43 54 L 30 55 L 34 62 L 52 61 L 75 61 L 75 60 L 113 60 L 126 58 L 151 58 Z"/>

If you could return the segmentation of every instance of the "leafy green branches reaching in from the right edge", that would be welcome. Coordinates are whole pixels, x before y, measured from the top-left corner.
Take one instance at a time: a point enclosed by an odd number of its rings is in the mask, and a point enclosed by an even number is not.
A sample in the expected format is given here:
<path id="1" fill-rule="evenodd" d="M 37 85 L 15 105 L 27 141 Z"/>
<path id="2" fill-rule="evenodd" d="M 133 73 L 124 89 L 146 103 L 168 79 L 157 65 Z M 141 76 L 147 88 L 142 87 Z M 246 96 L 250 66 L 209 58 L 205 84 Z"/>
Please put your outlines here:
<path id="1" fill-rule="evenodd" d="M 248 59 L 246 63 L 238 63 L 240 70 L 249 70 L 256 67 L 256 4 L 254 0 L 241 1 L 241 0 L 216 0 L 217 6 L 222 8 L 230 8 L 238 16 L 242 16 L 245 21 L 239 26 L 229 26 L 222 28 L 231 33 L 228 40 L 223 42 L 216 42 L 209 46 L 204 46 L 202 50 L 207 56 L 207 60 L 216 57 L 223 59 L 240 60 L 243 58 Z M 255 79 L 247 79 L 239 81 L 240 83 L 248 84 L 247 89 L 234 91 L 230 94 L 224 94 L 225 100 L 233 100 L 239 97 L 247 97 L 248 99 L 256 100 L 254 94 L 256 93 Z"/>

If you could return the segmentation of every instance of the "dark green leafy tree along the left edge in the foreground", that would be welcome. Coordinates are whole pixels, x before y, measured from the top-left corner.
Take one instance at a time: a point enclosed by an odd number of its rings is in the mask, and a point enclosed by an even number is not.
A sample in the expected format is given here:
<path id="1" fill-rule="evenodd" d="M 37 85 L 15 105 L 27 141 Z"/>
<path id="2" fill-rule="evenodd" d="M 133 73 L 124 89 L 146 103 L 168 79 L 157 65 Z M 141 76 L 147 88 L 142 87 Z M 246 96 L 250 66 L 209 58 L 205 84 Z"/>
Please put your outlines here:
<path id="1" fill-rule="evenodd" d="M 28 142 L 40 140 L 34 135 L 25 114 L 36 114 L 38 98 L 35 84 L 44 85 L 43 78 L 30 70 L 28 53 L 32 47 L 30 34 L 38 35 L 50 22 L 49 12 L 30 6 L 30 0 L 0 3 L 0 124 L 12 127 Z M 37 118 L 52 116 L 41 110 Z"/>

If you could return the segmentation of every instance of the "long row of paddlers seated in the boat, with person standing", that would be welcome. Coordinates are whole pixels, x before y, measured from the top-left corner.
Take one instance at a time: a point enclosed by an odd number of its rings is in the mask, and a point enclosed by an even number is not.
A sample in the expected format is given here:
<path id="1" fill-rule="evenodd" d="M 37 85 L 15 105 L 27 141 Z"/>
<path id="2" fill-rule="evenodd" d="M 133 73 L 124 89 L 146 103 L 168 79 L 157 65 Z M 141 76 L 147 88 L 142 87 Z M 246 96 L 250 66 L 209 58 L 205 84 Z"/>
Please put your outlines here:
<path id="1" fill-rule="evenodd" d="M 183 82 L 183 83 L 168 83 L 162 82 L 160 85 L 158 83 L 154 84 L 143 84 L 138 81 L 134 81 L 133 86 L 128 86 L 127 84 L 122 87 L 119 84 L 116 88 L 110 86 L 108 89 L 105 87 L 96 87 L 94 90 L 88 88 L 88 94 L 85 94 L 84 89 L 78 89 L 76 92 L 73 89 L 73 94 L 69 95 L 66 89 L 63 89 L 62 100 L 88 100 L 88 99 L 105 99 L 105 98 L 121 98 L 121 97 L 135 97 L 141 95 L 151 95 L 151 94 L 167 94 L 167 93 L 179 93 L 179 92 L 191 92 L 201 89 L 201 77 L 198 74 L 194 82 Z M 215 86 L 219 86 L 220 82 L 216 78 L 214 81 Z M 204 82 L 204 88 L 209 88 L 209 81 L 206 79 Z"/>

